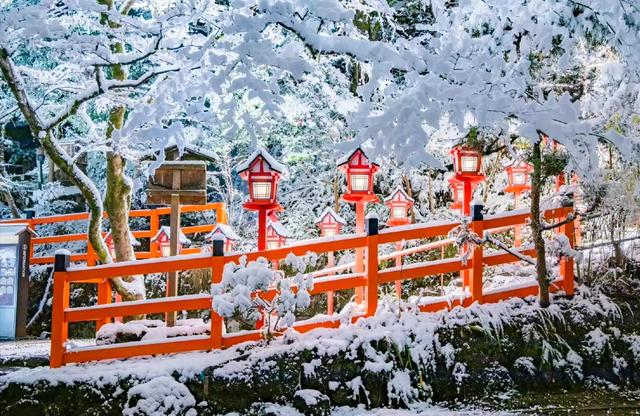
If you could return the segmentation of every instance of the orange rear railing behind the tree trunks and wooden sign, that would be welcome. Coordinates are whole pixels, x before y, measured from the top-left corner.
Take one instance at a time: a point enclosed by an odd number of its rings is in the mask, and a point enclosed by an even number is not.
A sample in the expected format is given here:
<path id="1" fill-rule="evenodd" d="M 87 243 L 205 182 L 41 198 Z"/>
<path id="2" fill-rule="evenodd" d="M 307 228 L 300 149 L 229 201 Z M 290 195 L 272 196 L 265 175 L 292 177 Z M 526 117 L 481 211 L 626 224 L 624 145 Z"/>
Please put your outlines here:
<path id="1" fill-rule="evenodd" d="M 216 213 L 216 222 L 221 224 L 227 223 L 227 208 L 224 202 L 213 202 L 205 205 L 184 205 L 180 207 L 180 212 L 207 212 L 213 211 Z M 149 218 L 149 229 L 148 230 L 138 230 L 132 231 L 131 234 L 135 238 L 153 238 L 160 229 L 160 217 L 169 215 L 171 213 L 170 207 L 160 207 L 153 209 L 139 209 L 133 210 L 129 212 L 130 218 Z M 106 213 L 104 217 L 107 218 Z M 14 219 L 14 220 L 4 220 L 0 221 L 2 224 L 11 224 L 11 223 L 28 223 L 29 227 L 36 231 L 37 227 L 45 224 L 58 224 L 58 223 L 68 223 L 72 221 L 86 221 L 89 219 L 89 213 L 80 212 L 75 214 L 65 214 L 65 215 L 52 215 L 47 217 L 38 217 L 38 218 L 29 218 L 29 219 Z M 183 234 L 194 234 L 194 233 L 204 233 L 210 232 L 215 227 L 215 223 L 213 224 L 202 224 L 202 225 L 192 225 L 188 227 L 182 227 L 181 231 Z M 105 233 L 103 233 L 105 234 Z M 43 236 L 43 237 L 34 237 L 31 239 L 31 264 L 51 264 L 54 262 L 54 256 L 35 256 L 35 247 L 37 245 L 44 244 L 64 244 L 70 243 L 74 241 L 86 241 L 87 242 L 87 252 L 83 253 L 73 253 L 71 254 L 72 262 L 84 261 L 87 263 L 87 266 L 94 266 L 97 263 L 96 253 L 93 251 L 91 244 L 89 244 L 88 237 L 86 233 L 75 233 L 75 234 L 62 234 L 62 235 L 53 235 L 53 236 Z M 190 253 L 199 253 L 199 248 L 183 248 L 182 253 L 190 254 Z M 156 258 L 160 257 L 160 249 L 158 247 L 158 243 L 150 242 L 149 243 L 149 251 L 136 251 L 136 258 L 138 259 L 148 259 L 148 258 Z"/>

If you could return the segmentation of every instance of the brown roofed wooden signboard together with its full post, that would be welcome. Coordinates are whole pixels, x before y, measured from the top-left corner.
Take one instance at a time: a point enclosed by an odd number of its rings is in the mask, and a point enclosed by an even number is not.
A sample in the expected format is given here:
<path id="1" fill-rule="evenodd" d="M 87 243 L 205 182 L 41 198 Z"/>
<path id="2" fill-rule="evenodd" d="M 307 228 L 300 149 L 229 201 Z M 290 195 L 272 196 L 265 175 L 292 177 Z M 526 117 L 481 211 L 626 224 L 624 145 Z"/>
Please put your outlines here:
<path id="1" fill-rule="evenodd" d="M 171 205 L 171 240 L 169 255 L 178 254 L 180 240 L 180 204 L 204 205 L 207 203 L 207 167 L 203 161 L 165 162 L 155 171 L 149 183 L 147 203 Z M 167 296 L 178 295 L 178 273 L 167 276 Z M 167 326 L 174 326 L 177 312 L 167 312 Z"/>

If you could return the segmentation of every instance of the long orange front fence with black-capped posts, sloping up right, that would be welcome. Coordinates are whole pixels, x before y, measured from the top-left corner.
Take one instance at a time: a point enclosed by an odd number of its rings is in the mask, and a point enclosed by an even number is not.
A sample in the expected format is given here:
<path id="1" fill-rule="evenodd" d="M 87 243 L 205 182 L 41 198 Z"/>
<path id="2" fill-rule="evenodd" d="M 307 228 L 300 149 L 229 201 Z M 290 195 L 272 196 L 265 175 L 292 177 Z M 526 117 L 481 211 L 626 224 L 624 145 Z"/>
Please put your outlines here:
<path id="1" fill-rule="evenodd" d="M 572 211 L 571 207 L 549 209 L 545 211 L 547 219 L 562 220 Z M 520 211 L 499 216 L 488 216 L 471 223 L 472 229 L 482 235 L 485 230 L 495 230 L 517 224 L 523 224 L 529 214 Z M 228 262 L 238 262 L 241 256 L 247 261 L 265 257 L 268 260 L 281 260 L 290 253 L 296 256 L 308 252 L 324 253 L 329 251 L 364 249 L 366 260 L 364 270 L 356 270 L 353 274 L 324 276 L 314 279 L 314 287 L 310 294 L 320 294 L 337 290 L 356 289 L 360 291 L 362 313 L 351 316 L 351 321 L 371 316 L 378 306 L 378 286 L 397 280 L 422 278 L 424 276 L 460 272 L 463 276 L 466 295 L 456 299 L 434 299 L 433 302 L 419 304 L 422 311 L 436 311 L 455 306 L 468 306 L 473 302 L 498 302 L 509 297 L 525 297 L 537 293 L 537 286 L 523 285 L 503 290 L 492 290 L 483 293 L 482 274 L 485 266 L 517 262 L 518 258 L 510 253 L 484 255 L 482 246 L 473 249 L 466 264 L 460 257 L 442 259 L 388 267 L 380 270 L 380 262 L 384 256 L 378 255 L 380 244 L 397 241 L 419 240 L 425 238 L 447 238 L 447 234 L 459 224 L 456 222 L 438 222 L 414 224 L 378 231 L 378 221 L 368 219 L 367 232 L 361 234 L 342 235 L 332 238 L 307 240 L 303 243 L 277 249 L 253 251 L 248 253 L 225 254 L 220 241 L 214 241 L 213 255 L 187 255 L 167 259 L 147 259 L 127 263 L 98 265 L 95 267 L 69 267 L 68 255 L 57 255 L 54 275 L 53 316 L 51 333 L 51 367 L 60 367 L 73 362 L 85 362 L 132 356 L 176 353 L 194 350 L 211 350 L 225 348 L 246 341 L 259 340 L 262 332 L 242 331 L 227 334 L 224 331 L 223 319 L 211 308 L 211 296 L 208 294 L 176 296 L 164 299 L 110 304 L 111 288 L 109 278 L 191 269 L 211 269 L 212 283 L 222 280 L 223 267 Z M 558 232 L 567 235 L 570 243 L 574 242 L 573 223 L 569 222 L 558 228 Z M 535 250 L 515 248 L 522 254 L 535 257 Z M 88 307 L 69 307 L 69 288 L 71 283 L 93 283 L 99 285 L 98 304 Z M 560 264 L 560 279 L 554 282 L 552 290 L 564 289 L 573 294 L 573 260 L 563 259 Z M 261 293 L 261 296 L 275 296 L 275 290 Z M 356 296 L 358 300 L 358 295 Z M 210 334 L 203 336 L 179 337 L 163 340 L 128 342 L 114 345 L 81 347 L 67 350 L 70 322 L 96 321 L 97 327 L 110 322 L 114 317 L 140 314 L 166 313 L 183 310 L 210 310 Z M 319 327 L 338 327 L 345 319 L 341 315 L 314 317 L 296 322 L 293 328 L 299 332 Z"/>

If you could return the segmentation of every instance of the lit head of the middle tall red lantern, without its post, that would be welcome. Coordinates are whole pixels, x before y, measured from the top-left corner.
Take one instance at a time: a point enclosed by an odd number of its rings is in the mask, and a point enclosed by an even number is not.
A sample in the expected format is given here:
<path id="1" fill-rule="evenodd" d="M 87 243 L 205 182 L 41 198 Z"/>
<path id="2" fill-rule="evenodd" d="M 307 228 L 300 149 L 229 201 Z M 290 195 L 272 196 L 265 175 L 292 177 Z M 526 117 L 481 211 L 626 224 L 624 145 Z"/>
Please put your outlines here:
<path id="1" fill-rule="evenodd" d="M 347 193 L 342 196 L 345 201 L 377 200 L 373 193 L 373 175 L 380 169 L 380 166 L 369 161 L 360 147 L 338 160 L 338 169 L 347 174 Z"/>

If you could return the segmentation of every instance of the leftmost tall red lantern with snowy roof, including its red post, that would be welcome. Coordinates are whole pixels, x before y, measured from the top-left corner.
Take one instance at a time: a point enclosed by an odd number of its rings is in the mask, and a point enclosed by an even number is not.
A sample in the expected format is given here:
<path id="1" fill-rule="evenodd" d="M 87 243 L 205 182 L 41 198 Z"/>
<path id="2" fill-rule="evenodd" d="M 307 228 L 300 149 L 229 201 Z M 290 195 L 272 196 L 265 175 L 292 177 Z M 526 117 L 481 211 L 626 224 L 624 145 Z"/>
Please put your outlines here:
<path id="1" fill-rule="evenodd" d="M 278 182 L 286 179 L 287 170 L 265 149 L 258 147 L 236 166 L 238 175 L 249 183 L 249 200 L 243 207 L 258 212 L 258 250 L 267 249 L 267 217 L 283 210 L 277 201 Z"/>

